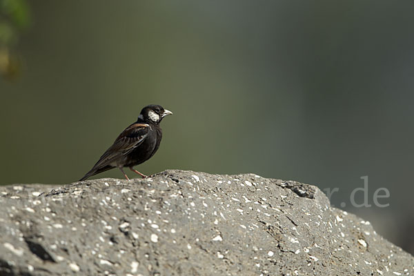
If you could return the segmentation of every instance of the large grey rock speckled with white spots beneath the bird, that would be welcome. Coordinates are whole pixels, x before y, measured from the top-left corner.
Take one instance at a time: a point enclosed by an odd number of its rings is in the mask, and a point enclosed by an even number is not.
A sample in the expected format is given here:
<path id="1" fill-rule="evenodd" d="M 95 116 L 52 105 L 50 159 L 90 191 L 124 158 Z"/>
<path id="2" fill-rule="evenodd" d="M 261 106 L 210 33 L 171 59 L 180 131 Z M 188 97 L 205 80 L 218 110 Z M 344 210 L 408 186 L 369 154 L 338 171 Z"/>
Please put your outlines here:
<path id="1" fill-rule="evenodd" d="M 168 170 L 0 188 L 0 275 L 413 275 L 315 186 Z"/>

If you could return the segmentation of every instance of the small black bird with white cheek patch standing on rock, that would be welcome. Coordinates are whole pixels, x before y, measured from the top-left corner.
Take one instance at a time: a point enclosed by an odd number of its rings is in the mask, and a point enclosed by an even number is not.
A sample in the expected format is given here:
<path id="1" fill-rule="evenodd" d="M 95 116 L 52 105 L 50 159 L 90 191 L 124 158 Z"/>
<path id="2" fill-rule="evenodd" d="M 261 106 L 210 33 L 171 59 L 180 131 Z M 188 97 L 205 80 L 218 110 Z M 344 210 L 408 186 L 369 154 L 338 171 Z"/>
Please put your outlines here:
<path id="1" fill-rule="evenodd" d="M 133 167 L 144 163 L 157 152 L 162 138 L 159 123 L 171 114 L 171 111 L 155 104 L 142 108 L 137 121 L 121 132 L 114 144 L 99 158 L 97 164 L 79 181 L 112 168 L 119 168 L 129 180 L 124 167 L 129 167 L 132 172 L 143 178 L 148 177 Z"/>

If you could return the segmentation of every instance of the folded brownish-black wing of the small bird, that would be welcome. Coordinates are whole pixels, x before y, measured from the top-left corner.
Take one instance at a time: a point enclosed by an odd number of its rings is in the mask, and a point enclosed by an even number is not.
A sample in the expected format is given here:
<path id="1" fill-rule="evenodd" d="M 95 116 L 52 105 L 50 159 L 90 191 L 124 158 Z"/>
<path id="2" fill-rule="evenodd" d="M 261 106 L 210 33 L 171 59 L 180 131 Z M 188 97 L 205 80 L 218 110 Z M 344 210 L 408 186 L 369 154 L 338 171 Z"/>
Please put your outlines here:
<path id="1" fill-rule="evenodd" d="M 139 146 L 148 136 L 150 128 L 151 127 L 148 124 L 138 123 L 128 126 L 128 128 L 121 132 L 117 139 L 115 139 L 114 144 L 103 153 L 92 170 L 108 166 L 119 157 L 127 155 L 134 148 L 137 148 L 137 146 Z"/>

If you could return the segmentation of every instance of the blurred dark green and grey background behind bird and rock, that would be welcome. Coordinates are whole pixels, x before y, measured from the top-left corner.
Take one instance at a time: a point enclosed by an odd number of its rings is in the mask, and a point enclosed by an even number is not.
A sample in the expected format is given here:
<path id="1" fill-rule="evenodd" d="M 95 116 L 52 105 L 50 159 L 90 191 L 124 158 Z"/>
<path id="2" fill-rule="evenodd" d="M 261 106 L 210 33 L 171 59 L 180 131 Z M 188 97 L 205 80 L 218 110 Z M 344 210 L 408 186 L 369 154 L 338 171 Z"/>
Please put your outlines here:
<path id="1" fill-rule="evenodd" d="M 141 172 L 339 188 L 414 253 L 413 1 L 0 3 L 1 184 L 77 181 L 157 103 L 174 115 Z M 365 175 L 387 208 L 351 206 Z"/>

